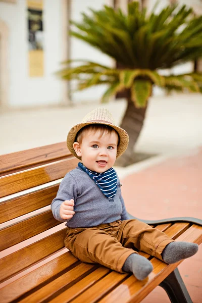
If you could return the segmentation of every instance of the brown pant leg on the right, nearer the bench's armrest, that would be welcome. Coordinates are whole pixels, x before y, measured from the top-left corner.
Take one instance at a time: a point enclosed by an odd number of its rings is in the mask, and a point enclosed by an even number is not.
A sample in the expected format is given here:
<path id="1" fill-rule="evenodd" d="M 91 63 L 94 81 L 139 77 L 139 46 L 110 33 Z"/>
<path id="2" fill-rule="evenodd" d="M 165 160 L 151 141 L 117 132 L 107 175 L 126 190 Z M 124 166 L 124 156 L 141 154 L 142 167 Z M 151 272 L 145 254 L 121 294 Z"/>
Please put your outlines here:
<path id="1" fill-rule="evenodd" d="M 162 261 L 164 248 L 174 241 L 164 232 L 135 219 L 122 221 L 117 239 L 124 247 L 135 247 Z"/>

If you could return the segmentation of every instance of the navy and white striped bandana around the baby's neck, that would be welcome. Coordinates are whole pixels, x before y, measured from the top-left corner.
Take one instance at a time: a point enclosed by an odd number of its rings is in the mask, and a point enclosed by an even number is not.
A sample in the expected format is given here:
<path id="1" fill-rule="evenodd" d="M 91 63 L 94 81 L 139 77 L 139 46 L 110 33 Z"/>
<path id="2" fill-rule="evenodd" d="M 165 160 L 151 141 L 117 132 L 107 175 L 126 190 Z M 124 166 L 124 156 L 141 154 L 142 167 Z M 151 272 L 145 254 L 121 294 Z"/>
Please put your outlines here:
<path id="1" fill-rule="evenodd" d="M 113 197 L 117 193 L 117 174 L 113 168 L 108 169 L 104 173 L 97 173 L 87 169 L 81 162 L 78 163 L 78 167 L 94 180 L 108 200 L 113 200 Z"/>

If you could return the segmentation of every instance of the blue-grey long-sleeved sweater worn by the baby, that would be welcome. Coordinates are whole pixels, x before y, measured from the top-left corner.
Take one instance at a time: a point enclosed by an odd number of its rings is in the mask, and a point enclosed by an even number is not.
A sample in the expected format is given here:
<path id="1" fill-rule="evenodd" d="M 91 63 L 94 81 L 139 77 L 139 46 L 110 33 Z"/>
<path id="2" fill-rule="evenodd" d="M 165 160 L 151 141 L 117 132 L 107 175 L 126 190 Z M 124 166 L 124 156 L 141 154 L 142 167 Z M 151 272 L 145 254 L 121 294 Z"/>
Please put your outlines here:
<path id="1" fill-rule="evenodd" d="M 108 200 L 88 174 L 76 167 L 63 178 L 57 196 L 53 199 L 51 209 L 54 217 L 61 222 L 67 221 L 66 225 L 70 228 L 92 227 L 129 219 L 118 176 L 117 180 L 117 193 L 113 200 Z M 60 217 L 60 206 L 63 201 L 70 199 L 74 199 L 75 214 L 71 219 L 63 220 Z"/>

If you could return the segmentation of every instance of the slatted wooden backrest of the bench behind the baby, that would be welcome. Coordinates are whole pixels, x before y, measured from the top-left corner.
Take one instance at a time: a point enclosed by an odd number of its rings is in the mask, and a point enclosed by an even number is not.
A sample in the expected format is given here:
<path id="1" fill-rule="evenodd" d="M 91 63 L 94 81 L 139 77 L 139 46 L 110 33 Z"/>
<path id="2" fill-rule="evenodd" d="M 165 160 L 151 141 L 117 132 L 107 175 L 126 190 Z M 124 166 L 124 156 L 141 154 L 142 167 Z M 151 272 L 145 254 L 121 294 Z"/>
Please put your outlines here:
<path id="1" fill-rule="evenodd" d="M 0 156 L 0 282 L 64 247 L 50 205 L 77 163 L 66 142 Z"/>

